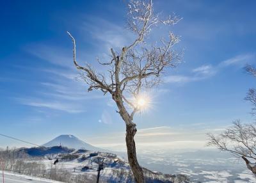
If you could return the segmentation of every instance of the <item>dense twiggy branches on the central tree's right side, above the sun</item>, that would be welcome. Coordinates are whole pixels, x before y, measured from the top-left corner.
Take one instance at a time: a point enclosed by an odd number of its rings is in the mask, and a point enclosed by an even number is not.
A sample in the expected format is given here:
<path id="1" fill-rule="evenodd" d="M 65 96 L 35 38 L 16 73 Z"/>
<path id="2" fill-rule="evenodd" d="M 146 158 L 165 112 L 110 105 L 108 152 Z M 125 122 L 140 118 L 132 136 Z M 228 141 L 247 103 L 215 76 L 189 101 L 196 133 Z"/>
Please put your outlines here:
<path id="1" fill-rule="evenodd" d="M 129 50 L 126 60 L 122 63 L 124 79 L 122 79 L 120 85 L 130 82 L 137 86 L 140 83 L 141 87 L 151 88 L 158 84 L 159 80 L 156 77 L 160 77 L 165 68 L 176 67 L 180 63 L 179 52 L 171 49 L 178 42 L 179 36 L 170 32 L 169 40 L 162 39 L 163 46 L 161 47 L 152 46 L 149 49 L 141 47 L 140 52 L 133 49 Z M 148 83 L 148 79 L 152 82 Z M 147 84 L 152 85 L 147 87 Z"/>

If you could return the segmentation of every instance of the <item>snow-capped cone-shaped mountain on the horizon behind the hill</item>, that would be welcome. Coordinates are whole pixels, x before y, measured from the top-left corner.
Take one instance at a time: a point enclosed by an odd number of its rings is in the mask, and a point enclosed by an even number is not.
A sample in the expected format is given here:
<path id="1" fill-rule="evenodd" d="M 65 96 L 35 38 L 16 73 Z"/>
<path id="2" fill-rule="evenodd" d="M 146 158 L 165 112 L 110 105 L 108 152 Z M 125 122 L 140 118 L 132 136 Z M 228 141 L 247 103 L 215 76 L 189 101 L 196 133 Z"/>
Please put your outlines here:
<path id="1" fill-rule="evenodd" d="M 44 145 L 42 145 L 42 147 L 53 147 L 53 146 L 59 146 L 59 145 L 63 147 L 76 148 L 76 149 L 85 148 L 86 150 L 95 150 L 95 151 L 102 150 L 101 148 L 94 147 L 93 145 L 85 143 L 81 139 L 71 134 L 60 135 L 52 139 L 51 141 L 45 143 Z"/>

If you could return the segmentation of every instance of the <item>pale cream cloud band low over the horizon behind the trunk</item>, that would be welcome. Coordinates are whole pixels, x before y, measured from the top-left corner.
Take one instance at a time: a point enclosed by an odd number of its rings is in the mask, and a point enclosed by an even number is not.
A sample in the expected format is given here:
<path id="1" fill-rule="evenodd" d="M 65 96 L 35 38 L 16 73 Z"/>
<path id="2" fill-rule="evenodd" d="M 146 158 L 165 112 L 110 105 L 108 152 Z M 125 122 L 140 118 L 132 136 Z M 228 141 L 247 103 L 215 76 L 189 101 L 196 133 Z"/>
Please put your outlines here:
<path id="1" fill-rule="evenodd" d="M 199 125 L 199 124 L 196 124 Z M 141 150 L 150 150 L 152 147 L 163 150 L 173 150 L 182 148 L 204 148 L 207 142 L 207 132 L 220 132 L 225 128 L 215 128 L 207 126 L 207 123 L 200 123 L 200 127 L 151 127 L 147 129 L 138 129 L 135 136 L 139 152 Z M 112 150 L 125 150 L 125 132 L 116 132 L 114 134 L 105 134 L 89 140 L 94 145 Z"/>

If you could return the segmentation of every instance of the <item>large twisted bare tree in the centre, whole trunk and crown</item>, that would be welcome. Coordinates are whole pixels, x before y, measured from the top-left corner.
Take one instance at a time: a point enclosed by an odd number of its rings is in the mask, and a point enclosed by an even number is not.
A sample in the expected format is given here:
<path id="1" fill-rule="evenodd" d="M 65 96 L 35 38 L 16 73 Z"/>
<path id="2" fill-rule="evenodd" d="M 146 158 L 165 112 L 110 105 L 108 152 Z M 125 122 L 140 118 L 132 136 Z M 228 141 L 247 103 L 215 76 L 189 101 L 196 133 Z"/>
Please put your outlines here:
<path id="1" fill-rule="evenodd" d="M 81 66 L 76 61 L 76 40 L 68 33 L 74 45 L 73 60 L 80 76 L 88 85 L 88 92 L 101 90 L 104 95 L 109 93 L 118 107 L 118 113 L 126 125 L 127 155 L 136 182 L 145 182 L 143 170 L 138 164 L 134 136 L 136 124 L 134 114 L 141 111 L 144 101 L 141 93 L 156 86 L 163 79 L 166 68 L 176 67 L 180 63 L 180 52 L 173 49 L 179 42 L 179 36 L 169 33 L 168 38 L 161 38 L 157 44 L 150 45 L 145 38 L 154 26 L 174 25 L 180 18 L 175 15 L 162 20 L 154 13 L 152 0 L 129 1 L 127 4 L 127 27 L 135 34 L 129 45 L 120 51 L 111 51 L 111 59 L 99 64 L 106 66 L 106 72 L 99 73 L 90 65 Z"/>

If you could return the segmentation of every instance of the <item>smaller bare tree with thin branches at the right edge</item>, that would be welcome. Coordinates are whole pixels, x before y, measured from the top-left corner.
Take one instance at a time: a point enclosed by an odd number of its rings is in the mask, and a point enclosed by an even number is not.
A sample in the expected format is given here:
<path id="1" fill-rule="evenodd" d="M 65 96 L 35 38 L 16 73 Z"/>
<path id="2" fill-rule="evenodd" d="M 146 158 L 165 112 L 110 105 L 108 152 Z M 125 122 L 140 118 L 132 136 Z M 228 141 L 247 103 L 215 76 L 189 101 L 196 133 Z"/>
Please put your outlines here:
<path id="1" fill-rule="evenodd" d="M 252 65 L 246 65 L 244 70 L 256 77 L 256 68 Z M 250 88 L 244 100 L 252 104 L 253 116 L 256 115 L 256 90 Z M 214 146 L 224 152 L 230 152 L 238 157 L 242 157 L 249 170 L 256 175 L 256 124 L 242 124 L 240 120 L 233 122 L 233 126 L 226 129 L 218 136 L 207 134 L 209 137 L 209 146 Z"/>

